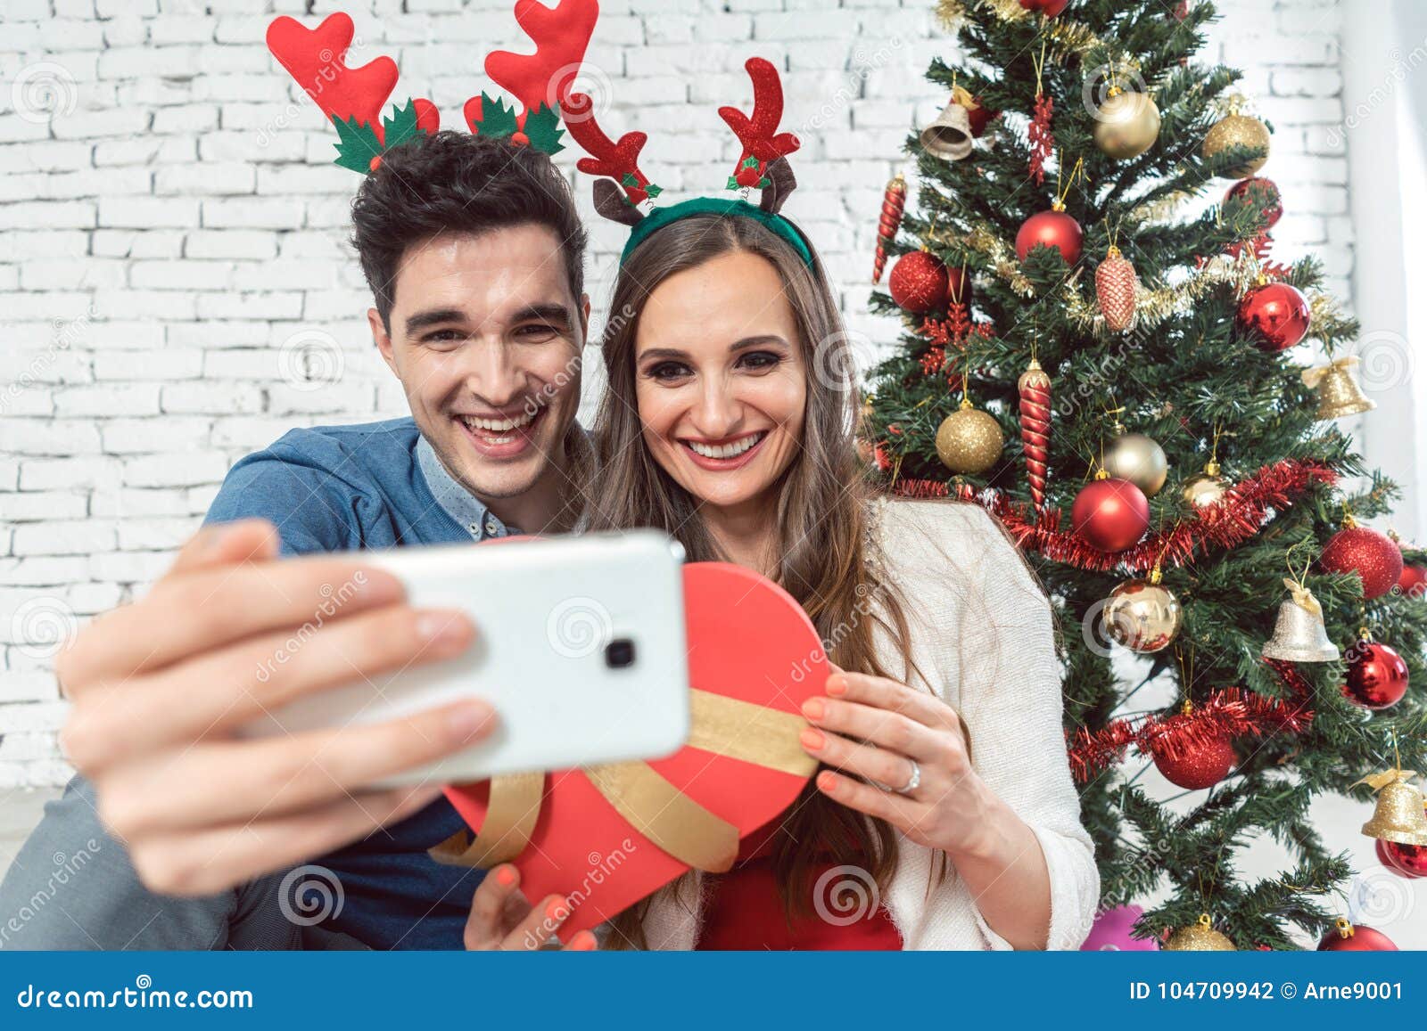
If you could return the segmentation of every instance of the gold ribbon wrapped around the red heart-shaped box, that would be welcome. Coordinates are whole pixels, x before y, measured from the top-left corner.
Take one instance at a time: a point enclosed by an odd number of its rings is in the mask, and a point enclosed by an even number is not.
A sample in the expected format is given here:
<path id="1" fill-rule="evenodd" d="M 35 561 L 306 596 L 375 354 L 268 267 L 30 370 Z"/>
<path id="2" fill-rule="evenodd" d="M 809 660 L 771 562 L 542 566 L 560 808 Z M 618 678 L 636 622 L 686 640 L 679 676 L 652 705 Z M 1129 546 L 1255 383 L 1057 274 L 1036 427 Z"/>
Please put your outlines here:
<path id="1" fill-rule="evenodd" d="M 798 777 L 818 769 L 818 760 L 798 742 L 806 723 L 796 713 L 691 690 L 689 716 L 689 747 Z M 705 873 L 732 868 L 738 827 L 694 801 L 648 763 L 601 763 L 581 773 L 631 827 L 674 858 Z M 491 797 L 475 841 L 467 831 L 457 831 L 431 848 L 431 857 L 485 870 L 515 858 L 529 844 L 544 797 L 544 773 L 491 777 Z"/>

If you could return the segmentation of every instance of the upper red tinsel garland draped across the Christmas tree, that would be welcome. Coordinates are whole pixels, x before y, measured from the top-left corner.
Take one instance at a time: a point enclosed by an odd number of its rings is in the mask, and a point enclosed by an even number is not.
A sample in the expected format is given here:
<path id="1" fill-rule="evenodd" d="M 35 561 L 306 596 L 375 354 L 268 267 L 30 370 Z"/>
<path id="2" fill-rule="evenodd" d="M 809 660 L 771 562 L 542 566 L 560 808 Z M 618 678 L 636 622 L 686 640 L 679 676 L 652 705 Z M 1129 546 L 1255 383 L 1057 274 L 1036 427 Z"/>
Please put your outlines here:
<path id="1" fill-rule="evenodd" d="M 893 493 L 905 498 L 948 498 L 975 501 L 1000 519 L 1016 545 L 1065 562 L 1077 569 L 1109 572 L 1124 568 L 1149 572 L 1156 563 L 1182 566 L 1209 546 L 1233 548 L 1257 533 L 1269 509 L 1293 505 L 1316 483 L 1337 483 L 1339 475 L 1324 462 L 1283 459 L 1266 465 L 1253 476 L 1234 483 L 1217 505 L 1196 509 L 1167 530 L 1156 530 L 1123 552 L 1092 548 L 1075 530 L 1060 525 L 1060 509 L 1039 515 L 1023 502 L 1013 502 L 997 491 L 976 491 L 969 483 L 955 488 L 940 481 L 902 481 Z"/>

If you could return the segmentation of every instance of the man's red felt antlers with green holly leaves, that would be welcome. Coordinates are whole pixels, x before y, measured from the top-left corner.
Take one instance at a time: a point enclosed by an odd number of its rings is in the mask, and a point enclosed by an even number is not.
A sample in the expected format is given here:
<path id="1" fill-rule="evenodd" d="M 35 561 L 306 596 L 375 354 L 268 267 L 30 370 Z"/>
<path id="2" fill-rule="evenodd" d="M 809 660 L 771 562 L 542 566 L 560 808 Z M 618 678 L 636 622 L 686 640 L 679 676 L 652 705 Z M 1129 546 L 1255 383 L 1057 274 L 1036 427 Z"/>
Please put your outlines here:
<path id="1" fill-rule="evenodd" d="M 497 50 L 485 57 L 485 74 L 519 103 L 507 107 L 484 90 L 465 101 L 462 114 L 478 135 L 509 138 L 547 154 L 564 150 L 559 116 L 574 84 L 585 48 L 599 17 L 596 0 L 561 0 L 545 7 L 539 0 L 517 0 L 515 21 L 535 41 L 534 54 Z M 317 29 L 290 19 L 275 19 L 267 30 L 273 56 L 337 125 L 335 164 L 362 174 L 381 164 L 381 155 L 417 133 L 435 133 L 441 116 L 430 100 L 408 100 L 380 118 L 397 86 L 397 63 L 377 57 L 358 68 L 345 63 L 355 29 L 342 11 L 330 14 Z"/>

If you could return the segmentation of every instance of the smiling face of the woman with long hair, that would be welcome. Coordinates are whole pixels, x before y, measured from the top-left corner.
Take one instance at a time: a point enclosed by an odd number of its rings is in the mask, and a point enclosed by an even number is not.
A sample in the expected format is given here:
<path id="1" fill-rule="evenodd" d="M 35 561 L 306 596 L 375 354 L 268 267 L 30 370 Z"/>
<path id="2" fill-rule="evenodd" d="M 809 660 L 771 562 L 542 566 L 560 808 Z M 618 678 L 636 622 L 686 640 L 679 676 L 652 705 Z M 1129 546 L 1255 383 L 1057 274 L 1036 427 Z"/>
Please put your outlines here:
<path id="1" fill-rule="evenodd" d="M 635 338 L 645 446 L 706 505 L 761 499 L 801 446 L 805 365 L 769 261 L 733 251 L 671 275 L 645 302 Z"/>

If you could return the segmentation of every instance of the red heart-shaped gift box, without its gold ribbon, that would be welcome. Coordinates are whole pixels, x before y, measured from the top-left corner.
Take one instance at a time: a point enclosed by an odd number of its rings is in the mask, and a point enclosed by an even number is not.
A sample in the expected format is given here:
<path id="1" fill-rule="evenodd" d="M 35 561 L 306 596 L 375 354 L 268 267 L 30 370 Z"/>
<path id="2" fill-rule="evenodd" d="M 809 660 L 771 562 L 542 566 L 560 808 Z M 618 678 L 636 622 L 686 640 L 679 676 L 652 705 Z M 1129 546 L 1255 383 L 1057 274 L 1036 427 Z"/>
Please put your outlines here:
<path id="1" fill-rule="evenodd" d="M 818 632 L 782 588 L 742 566 L 698 562 L 684 569 L 684 605 L 695 692 L 793 716 L 822 693 L 829 670 Z M 806 761 L 796 774 L 691 744 L 649 766 L 745 838 L 796 800 L 816 766 Z M 452 784 L 445 793 L 479 840 L 489 781 Z M 559 928 L 565 941 L 689 870 L 635 830 L 581 770 L 545 774 L 529 844 L 512 863 L 527 898 L 571 898 L 572 913 Z"/>

